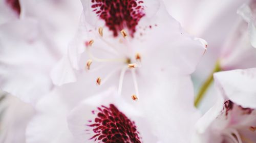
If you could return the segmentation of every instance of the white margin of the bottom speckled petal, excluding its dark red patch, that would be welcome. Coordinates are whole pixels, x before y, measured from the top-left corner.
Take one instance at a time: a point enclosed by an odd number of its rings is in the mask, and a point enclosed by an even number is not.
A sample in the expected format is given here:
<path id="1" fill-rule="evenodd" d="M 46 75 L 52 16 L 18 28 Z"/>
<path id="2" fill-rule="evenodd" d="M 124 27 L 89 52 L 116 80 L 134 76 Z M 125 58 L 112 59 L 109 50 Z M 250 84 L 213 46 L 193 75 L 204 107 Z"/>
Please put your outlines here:
<path id="1" fill-rule="evenodd" d="M 156 142 L 156 138 L 151 134 L 151 130 L 149 130 L 150 127 L 146 124 L 147 120 L 143 118 L 139 109 L 124 102 L 115 89 L 110 89 L 99 95 L 83 100 L 71 111 L 68 116 L 68 123 L 77 142 L 94 142 L 94 139 L 90 138 L 93 137 L 95 133 L 90 130 L 90 127 L 87 125 L 89 125 L 90 122 L 92 124 L 94 123 L 94 119 L 97 117 L 97 107 L 101 107 L 101 105 L 108 107 L 110 104 L 114 104 L 120 111 L 125 113 L 129 119 L 135 121 L 137 129 L 144 141 Z"/>

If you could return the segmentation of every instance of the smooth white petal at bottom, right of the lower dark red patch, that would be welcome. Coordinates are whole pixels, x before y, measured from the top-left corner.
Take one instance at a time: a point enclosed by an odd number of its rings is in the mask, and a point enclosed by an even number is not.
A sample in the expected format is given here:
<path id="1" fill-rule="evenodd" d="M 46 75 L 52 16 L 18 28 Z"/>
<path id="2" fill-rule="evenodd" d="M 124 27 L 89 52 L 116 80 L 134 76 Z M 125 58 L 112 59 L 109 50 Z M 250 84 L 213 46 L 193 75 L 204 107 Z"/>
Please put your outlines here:
<path id="1" fill-rule="evenodd" d="M 147 119 L 154 134 L 162 142 L 190 142 L 195 131 L 194 126 L 200 117 L 193 104 L 190 78 L 177 75 L 162 78 L 166 79 L 156 83 L 157 86 L 141 91 L 147 95 L 140 98 Z"/>

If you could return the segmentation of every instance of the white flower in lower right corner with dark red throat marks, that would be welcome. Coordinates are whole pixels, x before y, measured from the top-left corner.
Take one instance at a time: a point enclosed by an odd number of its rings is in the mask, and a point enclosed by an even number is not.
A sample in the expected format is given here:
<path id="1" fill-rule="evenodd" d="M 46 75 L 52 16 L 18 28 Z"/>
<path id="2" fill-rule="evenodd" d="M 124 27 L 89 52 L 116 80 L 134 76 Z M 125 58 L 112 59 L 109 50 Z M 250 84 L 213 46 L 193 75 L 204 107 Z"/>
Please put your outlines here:
<path id="1" fill-rule="evenodd" d="M 252 143 L 256 141 L 256 69 L 215 74 L 221 96 L 198 121 L 196 142 Z"/>

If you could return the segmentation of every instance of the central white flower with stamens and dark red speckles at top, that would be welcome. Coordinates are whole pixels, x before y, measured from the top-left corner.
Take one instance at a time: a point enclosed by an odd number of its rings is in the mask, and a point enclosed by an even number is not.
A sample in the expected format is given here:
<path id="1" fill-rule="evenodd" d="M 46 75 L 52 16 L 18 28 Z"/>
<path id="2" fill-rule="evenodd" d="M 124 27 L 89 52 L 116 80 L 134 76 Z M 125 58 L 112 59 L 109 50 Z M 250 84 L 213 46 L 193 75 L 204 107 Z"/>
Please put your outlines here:
<path id="1" fill-rule="evenodd" d="M 204 53 L 205 45 L 187 35 L 161 1 L 82 3 L 78 34 L 51 73 L 56 85 L 76 81 L 92 95 L 114 84 L 129 98 L 146 96 L 170 75 L 191 74 Z"/>

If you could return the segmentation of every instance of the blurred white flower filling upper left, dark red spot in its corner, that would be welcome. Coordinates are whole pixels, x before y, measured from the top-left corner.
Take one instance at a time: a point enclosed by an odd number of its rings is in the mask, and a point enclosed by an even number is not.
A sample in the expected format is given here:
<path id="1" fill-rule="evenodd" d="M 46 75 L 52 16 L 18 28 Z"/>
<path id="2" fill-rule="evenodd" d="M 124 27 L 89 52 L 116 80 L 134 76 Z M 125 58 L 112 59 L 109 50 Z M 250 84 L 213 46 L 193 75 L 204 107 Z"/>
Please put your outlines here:
<path id="1" fill-rule="evenodd" d="M 52 89 L 50 70 L 66 51 L 79 1 L 1 1 L 0 87 L 32 102 Z M 79 7 L 80 6 L 80 7 Z"/>

